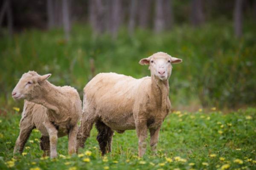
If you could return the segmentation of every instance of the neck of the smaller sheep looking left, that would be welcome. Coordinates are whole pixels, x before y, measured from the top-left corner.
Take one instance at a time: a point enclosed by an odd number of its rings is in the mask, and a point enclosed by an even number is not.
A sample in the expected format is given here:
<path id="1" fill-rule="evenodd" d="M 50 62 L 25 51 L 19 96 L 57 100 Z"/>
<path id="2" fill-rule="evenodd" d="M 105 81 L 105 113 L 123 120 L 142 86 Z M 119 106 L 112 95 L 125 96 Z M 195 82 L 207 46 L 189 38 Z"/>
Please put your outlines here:
<path id="1" fill-rule="evenodd" d="M 59 107 L 65 105 L 64 98 L 64 94 L 55 85 L 45 81 L 40 86 L 40 95 L 32 99 L 31 102 L 41 104 L 58 115 L 60 112 Z"/>

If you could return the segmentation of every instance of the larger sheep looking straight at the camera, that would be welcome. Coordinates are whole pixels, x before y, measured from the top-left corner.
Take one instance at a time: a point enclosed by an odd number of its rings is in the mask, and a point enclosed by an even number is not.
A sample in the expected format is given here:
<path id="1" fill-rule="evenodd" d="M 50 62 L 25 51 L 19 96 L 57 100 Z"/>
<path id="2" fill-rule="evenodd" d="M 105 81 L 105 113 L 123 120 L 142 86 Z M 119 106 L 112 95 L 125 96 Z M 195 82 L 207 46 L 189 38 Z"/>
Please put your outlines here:
<path id="1" fill-rule="evenodd" d="M 157 151 L 159 130 L 171 108 L 169 100 L 169 77 L 172 64 L 182 59 L 158 52 L 140 60 L 149 65 L 151 77 L 135 79 L 116 73 L 100 73 L 84 87 L 83 113 L 77 135 L 78 146 L 90 136 L 95 123 L 97 141 L 102 155 L 111 152 L 113 132 L 137 131 L 138 155 L 145 153 L 147 130 L 150 132 L 150 146 Z"/>

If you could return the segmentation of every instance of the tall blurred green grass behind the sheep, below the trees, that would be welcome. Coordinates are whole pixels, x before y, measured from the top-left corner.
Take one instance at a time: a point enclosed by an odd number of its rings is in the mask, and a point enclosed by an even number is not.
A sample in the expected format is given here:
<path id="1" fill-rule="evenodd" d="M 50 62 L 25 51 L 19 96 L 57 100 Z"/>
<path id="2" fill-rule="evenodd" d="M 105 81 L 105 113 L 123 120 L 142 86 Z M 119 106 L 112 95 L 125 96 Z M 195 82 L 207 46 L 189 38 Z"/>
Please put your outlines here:
<path id="1" fill-rule="evenodd" d="M 126 29 L 116 40 L 108 34 L 93 36 L 87 25 L 73 26 L 70 41 L 63 31 L 25 30 L 0 39 L 0 108 L 17 105 L 11 92 L 24 72 L 52 73 L 55 85 L 71 85 L 79 91 L 95 74 L 116 72 L 136 78 L 150 74 L 138 62 L 164 51 L 183 63 L 173 65 L 170 99 L 174 108 L 190 105 L 239 108 L 256 105 L 256 24 L 245 20 L 243 37 L 236 38 L 233 23 L 226 20 L 192 28 L 176 26 L 162 34 L 137 29 L 130 37 Z M 19 102 L 19 107 L 23 103 Z"/>

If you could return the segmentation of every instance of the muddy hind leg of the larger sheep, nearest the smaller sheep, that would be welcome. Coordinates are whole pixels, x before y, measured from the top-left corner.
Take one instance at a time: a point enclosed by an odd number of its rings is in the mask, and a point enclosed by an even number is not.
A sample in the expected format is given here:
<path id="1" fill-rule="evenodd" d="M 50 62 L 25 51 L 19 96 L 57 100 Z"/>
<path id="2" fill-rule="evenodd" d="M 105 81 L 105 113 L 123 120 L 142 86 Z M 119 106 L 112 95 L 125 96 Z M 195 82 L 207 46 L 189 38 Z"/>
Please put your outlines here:
<path id="1" fill-rule="evenodd" d="M 90 131 L 93 128 L 93 123 L 95 122 L 95 120 L 96 118 L 92 118 L 90 116 L 87 116 L 87 113 L 83 113 L 81 125 L 77 133 L 77 151 L 79 147 L 84 148 L 84 143 L 86 139 L 90 136 Z"/>

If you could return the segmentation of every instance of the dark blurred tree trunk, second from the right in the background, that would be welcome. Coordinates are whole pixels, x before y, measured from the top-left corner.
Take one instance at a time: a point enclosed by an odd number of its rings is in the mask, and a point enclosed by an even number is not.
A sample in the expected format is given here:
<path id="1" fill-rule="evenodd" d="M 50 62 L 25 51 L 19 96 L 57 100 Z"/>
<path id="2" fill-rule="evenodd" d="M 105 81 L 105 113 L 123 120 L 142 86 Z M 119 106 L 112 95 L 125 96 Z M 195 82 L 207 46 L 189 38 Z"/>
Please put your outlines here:
<path id="1" fill-rule="evenodd" d="M 201 0 L 192 0 L 191 21 L 194 26 L 204 23 L 204 13 Z"/>

